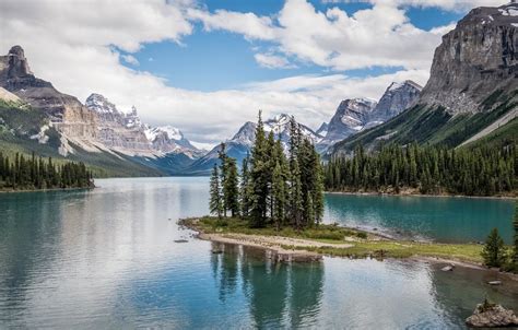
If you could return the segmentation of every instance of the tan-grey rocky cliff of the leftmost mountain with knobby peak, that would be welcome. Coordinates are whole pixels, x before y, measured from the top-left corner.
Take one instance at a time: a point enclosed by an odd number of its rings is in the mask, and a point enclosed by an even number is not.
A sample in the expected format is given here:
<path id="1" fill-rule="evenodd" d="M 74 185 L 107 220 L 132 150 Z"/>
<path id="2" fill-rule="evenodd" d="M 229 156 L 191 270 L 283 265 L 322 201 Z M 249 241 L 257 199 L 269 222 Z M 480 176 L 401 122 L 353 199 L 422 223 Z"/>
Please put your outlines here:
<path id="1" fill-rule="evenodd" d="M 52 125 L 68 137 L 97 137 L 95 113 L 75 97 L 58 92 L 51 83 L 34 76 L 22 47 L 14 46 L 7 56 L 0 56 L 0 86 L 45 111 Z"/>

